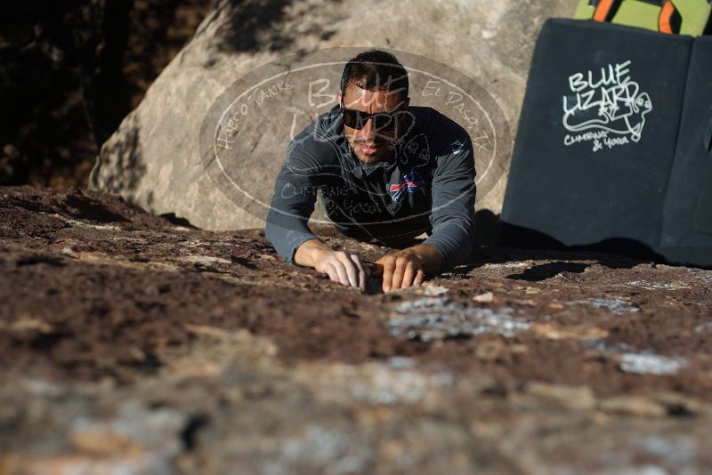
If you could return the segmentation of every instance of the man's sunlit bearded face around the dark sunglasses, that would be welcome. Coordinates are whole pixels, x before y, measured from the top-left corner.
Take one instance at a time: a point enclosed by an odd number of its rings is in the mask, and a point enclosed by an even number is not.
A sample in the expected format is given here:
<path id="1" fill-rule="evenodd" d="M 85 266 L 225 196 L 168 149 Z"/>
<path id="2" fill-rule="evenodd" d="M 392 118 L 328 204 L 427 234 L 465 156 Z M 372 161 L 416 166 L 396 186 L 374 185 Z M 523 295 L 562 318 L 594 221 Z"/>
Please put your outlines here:
<path id="1" fill-rule="evenodd" d="M 398 120 L 402 125 L 402 118 L 408 108 L 409 98 L 404 101 L 401 93 L 376 89 L 368 91 L 361 89 L 358 85 L 349 84 L 346 86 L 344 95 L 338 94 L 338 101 L 344 104 L 345 109 L 360 110 L 374 114 L 376 112 L 399 111 Z M 402 126 L 374 127 L 373 117 L 369 118 L 361 129 L 355 129 L 344 124 L 344 135 L 349 145 L 356 154 L 356 157 L 365 164 L 371 165 L 381 161 L 388 161 L 392 157 L 393 142 L 398 139 L 398 134 L 402 132 Z"/>

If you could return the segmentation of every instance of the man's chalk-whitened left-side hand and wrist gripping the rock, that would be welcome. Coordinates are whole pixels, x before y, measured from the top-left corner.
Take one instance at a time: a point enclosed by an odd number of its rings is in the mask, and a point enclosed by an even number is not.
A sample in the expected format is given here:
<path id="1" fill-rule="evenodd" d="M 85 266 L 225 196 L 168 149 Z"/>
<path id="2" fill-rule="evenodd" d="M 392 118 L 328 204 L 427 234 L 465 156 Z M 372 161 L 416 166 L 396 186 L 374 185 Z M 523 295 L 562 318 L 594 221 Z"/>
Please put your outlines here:
<path id="1" fill-rule="evenodd" d="M 306 267 L 324 272 L 328 278 L 344 286 L 366 289 L 368 272 L 364 269 L 357 254 L 334 251 L 319 239 L 310 239 L 299 246 L 295 253 L 295 262 Z"/>

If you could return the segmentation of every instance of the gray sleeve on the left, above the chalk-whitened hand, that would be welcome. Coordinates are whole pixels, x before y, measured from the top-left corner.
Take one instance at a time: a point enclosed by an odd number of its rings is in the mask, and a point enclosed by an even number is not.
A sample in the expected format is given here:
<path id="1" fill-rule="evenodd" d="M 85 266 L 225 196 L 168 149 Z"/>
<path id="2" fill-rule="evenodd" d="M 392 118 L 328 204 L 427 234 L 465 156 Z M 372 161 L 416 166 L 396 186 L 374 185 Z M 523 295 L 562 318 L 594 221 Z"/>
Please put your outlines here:
<path id="1" fill-rule="evenodd" d="M 264 226 L 264 234 L 277 254 L 295 265 L 298 265 L 296 249 L 304 241 L 317 238 L 307 226 L 319 187 L 317 166 L 311 154 L 289 148 L 285 165 L 274 183 L 274 195 Z"/>

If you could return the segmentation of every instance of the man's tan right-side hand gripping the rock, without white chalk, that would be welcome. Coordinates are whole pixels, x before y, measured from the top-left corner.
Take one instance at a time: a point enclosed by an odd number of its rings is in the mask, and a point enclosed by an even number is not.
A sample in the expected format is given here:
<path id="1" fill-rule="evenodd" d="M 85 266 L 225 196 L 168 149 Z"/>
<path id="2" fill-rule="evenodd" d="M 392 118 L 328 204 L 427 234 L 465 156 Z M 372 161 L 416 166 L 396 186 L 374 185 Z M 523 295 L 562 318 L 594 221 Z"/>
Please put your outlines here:
<path id="1" fill-rule="evenodd" d="M 419 286 L 423 283 L 425 273 L 435 273 L 440 268 L 440 253 L 434 246 L 427 244 L 385 254 L 376 261 L 376 273 L 384 279 L 384 292 Z"/>

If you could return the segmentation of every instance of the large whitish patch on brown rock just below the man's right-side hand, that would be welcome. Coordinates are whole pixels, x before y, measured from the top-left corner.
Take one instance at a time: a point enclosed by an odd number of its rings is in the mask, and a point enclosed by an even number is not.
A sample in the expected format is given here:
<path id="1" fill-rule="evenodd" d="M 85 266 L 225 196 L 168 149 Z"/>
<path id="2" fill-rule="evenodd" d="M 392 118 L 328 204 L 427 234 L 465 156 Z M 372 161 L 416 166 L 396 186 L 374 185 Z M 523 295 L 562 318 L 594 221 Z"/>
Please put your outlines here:
<path id="1" fill-rule="evenodd" d="M 424 342 L 457 336 L 494 333 L 514 336 L 530 323 L 514 318 L 515 310 L 471 307 L 448 297 L 402 302 L 387 322 L 393 336 L 407 334 Z"/>

